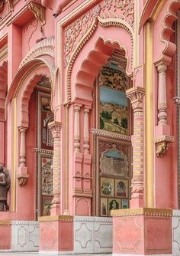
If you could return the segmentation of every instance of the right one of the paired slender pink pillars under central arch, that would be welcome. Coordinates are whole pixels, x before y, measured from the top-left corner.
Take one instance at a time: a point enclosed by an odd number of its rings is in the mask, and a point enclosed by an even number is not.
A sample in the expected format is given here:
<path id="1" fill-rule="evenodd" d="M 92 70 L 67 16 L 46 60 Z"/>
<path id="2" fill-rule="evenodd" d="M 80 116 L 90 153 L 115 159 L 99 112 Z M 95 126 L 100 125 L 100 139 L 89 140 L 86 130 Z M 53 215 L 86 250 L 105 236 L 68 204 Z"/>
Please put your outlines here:
<path id="1" fill-rule="evenodd" d="M 84 107 L 84 153 L 89 153 L 89 125 L 88 115 L 90 108 Z"/>

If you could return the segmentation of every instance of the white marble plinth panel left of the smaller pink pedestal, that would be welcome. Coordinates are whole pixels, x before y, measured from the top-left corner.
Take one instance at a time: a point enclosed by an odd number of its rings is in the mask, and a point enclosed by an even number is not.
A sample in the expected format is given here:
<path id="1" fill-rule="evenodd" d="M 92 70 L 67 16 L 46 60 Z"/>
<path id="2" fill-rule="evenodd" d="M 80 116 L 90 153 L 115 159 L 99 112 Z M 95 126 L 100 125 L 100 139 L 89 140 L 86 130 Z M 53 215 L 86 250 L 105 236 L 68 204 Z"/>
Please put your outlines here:
<path id="1" fill-rule="evenodd" d="M 39 222 L 11 222 L 11 251 L 38 251 Z"/>

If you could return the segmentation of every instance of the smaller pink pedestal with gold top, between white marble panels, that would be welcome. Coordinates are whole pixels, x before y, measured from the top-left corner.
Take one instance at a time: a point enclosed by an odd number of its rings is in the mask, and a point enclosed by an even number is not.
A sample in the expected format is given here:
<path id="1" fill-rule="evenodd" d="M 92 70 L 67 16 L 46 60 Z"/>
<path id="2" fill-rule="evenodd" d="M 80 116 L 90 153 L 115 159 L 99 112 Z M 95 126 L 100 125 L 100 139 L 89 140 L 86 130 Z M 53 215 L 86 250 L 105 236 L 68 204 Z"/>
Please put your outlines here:
<path id="1" fill-rule="evenodd" d="M 73 251 L 73 216 L 53 215 L 38 218 L 39 251 Z"/>

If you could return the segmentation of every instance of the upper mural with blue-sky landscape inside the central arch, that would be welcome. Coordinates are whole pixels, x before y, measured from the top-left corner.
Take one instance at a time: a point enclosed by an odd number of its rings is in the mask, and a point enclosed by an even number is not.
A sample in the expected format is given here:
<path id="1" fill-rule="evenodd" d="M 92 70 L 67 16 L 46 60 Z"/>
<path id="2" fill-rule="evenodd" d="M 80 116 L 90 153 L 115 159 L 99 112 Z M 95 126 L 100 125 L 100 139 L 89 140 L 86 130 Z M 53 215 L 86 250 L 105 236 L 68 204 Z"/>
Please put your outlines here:
<path id="1" fill-rule="evenodd" d="M 103 67 L 99 76 L 100 129 L 126 135 L 128 78 L 123 70 Z"/>

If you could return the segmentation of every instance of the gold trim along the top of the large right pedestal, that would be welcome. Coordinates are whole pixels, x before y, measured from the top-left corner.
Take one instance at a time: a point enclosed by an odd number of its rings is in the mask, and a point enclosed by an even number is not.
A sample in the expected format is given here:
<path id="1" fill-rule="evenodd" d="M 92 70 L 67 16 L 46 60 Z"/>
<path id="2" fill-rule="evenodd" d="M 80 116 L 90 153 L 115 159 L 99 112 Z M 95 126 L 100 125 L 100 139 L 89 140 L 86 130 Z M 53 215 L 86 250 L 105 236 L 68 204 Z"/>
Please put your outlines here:
<path id="1" fill-rule="evenodd" d="M 133 216 L 133 215 L 150 215 L 159 217 L 171 217 L 172 209 L 163 208 L 128 208 L 121 210 L 111 210 L 111 216 Z"/>

